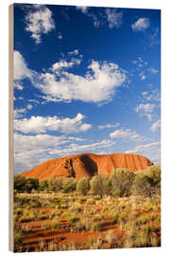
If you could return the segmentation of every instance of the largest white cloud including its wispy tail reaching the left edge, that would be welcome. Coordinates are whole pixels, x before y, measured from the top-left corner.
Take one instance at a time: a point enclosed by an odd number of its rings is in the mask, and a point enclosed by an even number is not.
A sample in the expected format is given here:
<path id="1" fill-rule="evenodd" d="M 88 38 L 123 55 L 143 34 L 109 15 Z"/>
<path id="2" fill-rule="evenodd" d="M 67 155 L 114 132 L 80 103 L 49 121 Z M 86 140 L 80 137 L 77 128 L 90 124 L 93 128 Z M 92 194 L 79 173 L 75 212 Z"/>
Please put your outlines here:
<path id="1" fill-rule="evenodd" d="M 92 61 L 84 75 L 70 71 L 81 63 L 78 56 L 70 61 L 60 60 L 42 73 L 27 68 L 23 56 L 17 52 L 20 65 L 15 65 L 15 79 L 29 78 L 39 88 L 46 101 L 109 102 L 117 87 L 127 80 L 127 71 L 118 64 Z M 20 68 L 19 68 L 20 67 Z"/>

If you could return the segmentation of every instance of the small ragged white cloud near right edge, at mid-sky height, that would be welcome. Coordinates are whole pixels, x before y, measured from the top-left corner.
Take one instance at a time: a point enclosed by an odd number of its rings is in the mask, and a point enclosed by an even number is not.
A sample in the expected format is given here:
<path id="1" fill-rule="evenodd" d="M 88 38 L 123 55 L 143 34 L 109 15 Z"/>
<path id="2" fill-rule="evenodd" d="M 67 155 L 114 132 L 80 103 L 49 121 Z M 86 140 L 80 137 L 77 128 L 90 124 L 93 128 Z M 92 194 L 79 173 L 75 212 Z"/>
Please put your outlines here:
<path id="1" fill-rule="evenodd" d="M 140 113 L 141 116 L 145 116 L 148 120 L 152 119 L 152 113 L 155 108 L 153 103 L 140 103 L 136 106 L 136 113 Z"/>

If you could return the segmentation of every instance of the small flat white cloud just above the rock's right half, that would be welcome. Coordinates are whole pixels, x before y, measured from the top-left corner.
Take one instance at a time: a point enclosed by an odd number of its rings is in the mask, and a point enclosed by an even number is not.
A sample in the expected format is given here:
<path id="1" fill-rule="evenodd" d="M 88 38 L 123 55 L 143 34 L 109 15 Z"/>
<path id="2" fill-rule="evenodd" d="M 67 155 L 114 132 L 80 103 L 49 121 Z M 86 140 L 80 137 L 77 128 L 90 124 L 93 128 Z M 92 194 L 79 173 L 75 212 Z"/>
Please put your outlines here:
<path id="1" fill-rule="evenodd" d="M 120 129 L 115 130 L 114 132 L 110 133 L 111 138 L 126 138 L 126 139 L 132 139 L 132 140 L 145 140 L 145 137 L 142 137 L 141 135 L 137 134 L 135 131 L 132 131 L 131 129 Z"/>

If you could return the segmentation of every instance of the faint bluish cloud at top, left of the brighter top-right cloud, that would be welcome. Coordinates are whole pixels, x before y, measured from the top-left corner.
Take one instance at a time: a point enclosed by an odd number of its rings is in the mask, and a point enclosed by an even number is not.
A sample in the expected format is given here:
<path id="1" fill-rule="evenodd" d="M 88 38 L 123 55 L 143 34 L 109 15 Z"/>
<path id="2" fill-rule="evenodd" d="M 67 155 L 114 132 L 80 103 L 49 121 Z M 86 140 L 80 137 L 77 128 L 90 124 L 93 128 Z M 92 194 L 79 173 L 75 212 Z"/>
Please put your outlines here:
<path id="1" fill-rule="evenodd" d="M 109 27 L 120 27 L 122 24 L 123 12 L 117 12 L 116 9 L 106 9 L 107 20 Z"/>

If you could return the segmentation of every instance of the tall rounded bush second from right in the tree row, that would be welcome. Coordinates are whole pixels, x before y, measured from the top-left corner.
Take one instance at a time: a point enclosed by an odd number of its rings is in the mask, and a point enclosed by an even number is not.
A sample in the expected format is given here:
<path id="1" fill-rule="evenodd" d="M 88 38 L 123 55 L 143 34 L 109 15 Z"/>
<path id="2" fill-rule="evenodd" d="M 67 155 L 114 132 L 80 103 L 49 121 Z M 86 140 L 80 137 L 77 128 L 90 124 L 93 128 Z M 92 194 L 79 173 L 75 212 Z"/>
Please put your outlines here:
<path id="1" fill-rule="evenodd" d="M 129 195 L 135 174 L 125 168 L 117 168 L 111 174 L 111 190 L 112 194 L 116 196 Z"/>

